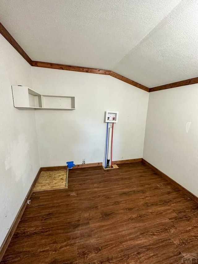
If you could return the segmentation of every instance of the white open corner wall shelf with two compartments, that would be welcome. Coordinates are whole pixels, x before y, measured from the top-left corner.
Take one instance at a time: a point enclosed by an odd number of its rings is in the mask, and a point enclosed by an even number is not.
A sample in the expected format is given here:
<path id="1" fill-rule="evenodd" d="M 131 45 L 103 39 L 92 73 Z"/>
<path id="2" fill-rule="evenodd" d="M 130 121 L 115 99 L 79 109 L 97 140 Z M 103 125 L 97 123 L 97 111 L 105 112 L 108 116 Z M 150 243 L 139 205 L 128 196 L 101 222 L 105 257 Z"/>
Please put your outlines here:
<path id="1" fill-rule="evenodd" d="M 12 85 L 14 107 L 54 110 L 74 110 L 75 97 L 65 95 L 44 95 L 27 86 Z"/>

